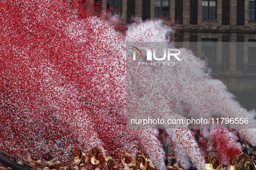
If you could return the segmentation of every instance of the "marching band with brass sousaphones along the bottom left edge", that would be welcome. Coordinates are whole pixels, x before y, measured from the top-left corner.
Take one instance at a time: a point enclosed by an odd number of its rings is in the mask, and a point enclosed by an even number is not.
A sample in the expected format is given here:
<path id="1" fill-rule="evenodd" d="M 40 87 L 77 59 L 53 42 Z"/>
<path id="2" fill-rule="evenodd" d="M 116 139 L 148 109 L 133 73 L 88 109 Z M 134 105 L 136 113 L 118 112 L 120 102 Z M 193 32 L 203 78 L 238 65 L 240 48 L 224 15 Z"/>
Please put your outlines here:
<path id="1" fill-rule="evenodd" d="M 3 152 L 4 153 L 4 152 Z M 10 158 L 10 154 L 6 154 Z M 12 157 L 14 158 L 14 157 Z M 121 160 L 114 160 L 111 156 L 105 157 L 99 147 L 92 147 L 87 154 L 80 146 L 76 146 L 72 152 L 70 161 L 41 161 L 34 160 L 31 156 L 23 158 L 22 161 L 14 160 L 24 167 L 39 170 L 155 170 L 155 167 L 143 153 L 138 152 L 134 157 L 132 154 L 121 152 Z M 29 166 L 28 166 L 29 165 Z M 0 170 L 12 169 L 0 166 Z"/>

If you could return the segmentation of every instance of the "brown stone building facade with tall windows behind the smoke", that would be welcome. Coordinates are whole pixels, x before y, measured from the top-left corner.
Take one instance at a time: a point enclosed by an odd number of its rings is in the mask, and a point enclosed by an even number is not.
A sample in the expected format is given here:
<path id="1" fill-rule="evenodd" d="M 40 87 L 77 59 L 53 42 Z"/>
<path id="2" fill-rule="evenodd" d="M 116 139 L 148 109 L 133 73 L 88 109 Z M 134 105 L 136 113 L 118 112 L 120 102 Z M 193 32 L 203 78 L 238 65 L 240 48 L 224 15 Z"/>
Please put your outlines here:
<path id="1" fill-rule="evenodd" d="M 256 0 L 91 0 L 112 7 L 123 21 L 162 18 L 228 88 L 256 88 Z M 221 43 L 226 42 L 226 43 Z M 183 44 L 183 45 L 184 45 Z M 205 51 L 204 49 L 214 48 Z M 207 56 L 206 56 L 207 57 Z"/>

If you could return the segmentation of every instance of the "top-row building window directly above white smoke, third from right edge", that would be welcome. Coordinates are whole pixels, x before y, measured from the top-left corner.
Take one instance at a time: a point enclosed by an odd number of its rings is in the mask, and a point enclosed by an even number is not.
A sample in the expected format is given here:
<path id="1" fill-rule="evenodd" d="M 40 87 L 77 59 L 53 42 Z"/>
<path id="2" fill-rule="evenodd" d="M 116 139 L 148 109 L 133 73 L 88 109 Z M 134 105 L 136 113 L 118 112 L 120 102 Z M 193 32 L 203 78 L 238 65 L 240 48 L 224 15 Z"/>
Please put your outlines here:
<path id="1" fill-rule="evenodd" d="M 155 17 L 169 18 L 170 17 L 169 0 L 155 0 Z"/>

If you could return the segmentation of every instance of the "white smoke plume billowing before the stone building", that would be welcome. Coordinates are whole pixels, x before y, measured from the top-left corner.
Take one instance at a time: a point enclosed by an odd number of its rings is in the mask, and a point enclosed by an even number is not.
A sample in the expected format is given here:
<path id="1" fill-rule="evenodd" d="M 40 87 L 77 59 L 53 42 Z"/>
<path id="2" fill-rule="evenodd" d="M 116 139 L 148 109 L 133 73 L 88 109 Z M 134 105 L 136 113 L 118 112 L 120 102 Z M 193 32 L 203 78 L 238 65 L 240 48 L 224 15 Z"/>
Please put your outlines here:
<path id="1" fill-rule="evenodd" d="M 171 32 L 171 29 L 162 26 L 161 21 L 142 22 L 129 27 L 126 33 L 126 41 L 168 42 L 168 35 Z M 174 47 L 174 44 L 170 44 L 169 47 Z M 140 110 L 147 110 L 149 115 L 153 115 L 155 118 L 175 118 L 175 116 L 180 118 L 192 116 L 195 119 L 243 117 L 249 120 L 250 125 L 247 127 L 255 128 L 255 112 L 248 112 L 242 108 L 234 100 L 233 94 L 227 91 L 226 85 L 210 76 L 203 60 L 195 57 L 190 50 L 185 48 L 180 50 L 179 58 L 181 61 L 176 62 L 175 66 L 168 69 L 161 66 L 143 66 L 142 69 L 137 66 L 134 69 L 136 72 L 133 72 L 134 75 L 131 76 L 133 86 L 129 87 L 130 91 L 136 91 L 134 94 L 145 94 L 146 91 L 151 91 L 152 87 L 157 87 L 156 89 L 158 89 L 157 96 L 133 96 L 136 99 L 133 103 L 134 106 L 139 107 Z M 139 81 L 136 81 L 136 79 Z M 152 101 L 155 102 L 155 110 L 148 109 L 148 106 L 152 105 Z M 166 105 L 169 107 L 164 107 Z M 220 128 L 225 128 L 225 126 L 220 126 Z M 238 129 L 240 127 L 234 126 L 233 128 Z M 177 157 L 182 160 L 181 166 L 189 168 L 192 163 L 198 169 L 204 169 L 204 159 L 199 145 L 194 140 L 194 135 L 190 130 L 167 129 L 167 132 L 176 145 L 175 152 Z M 240 135 L 245 135 L 247 141 L 255 145 L 256 138 L 253 135 L 255 134 L 255 129 L 240 129 L 239 132 Z M 227 129 L 222 134 L 218 130 L 211 130 L 208 135 L 207 138 L 209 140 L 226 138 L 227 141 L 221 145 L 227 148 L 233 145 L 233 148 L 236 148 L 238 152 L 241 151 L 241 145 L 237 142 L 237 136 L 231 130 Z M 224 153 L 224 151 L 227 150 L 220 152 L 223 154 L 224 165 L 227 165 L 230 155 Z"/>

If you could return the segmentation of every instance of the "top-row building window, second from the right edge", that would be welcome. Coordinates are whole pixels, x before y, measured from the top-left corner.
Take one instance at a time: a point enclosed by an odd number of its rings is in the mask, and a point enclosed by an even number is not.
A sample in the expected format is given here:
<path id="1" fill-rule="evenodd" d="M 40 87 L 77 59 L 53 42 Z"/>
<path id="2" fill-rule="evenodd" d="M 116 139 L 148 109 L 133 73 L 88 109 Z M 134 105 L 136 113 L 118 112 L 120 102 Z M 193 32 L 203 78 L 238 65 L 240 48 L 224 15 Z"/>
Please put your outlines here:
<path id="1" fill-rule="evenodd" d="M 202 1 L 202 19 L 216 19 L 216 0 Z"/>

